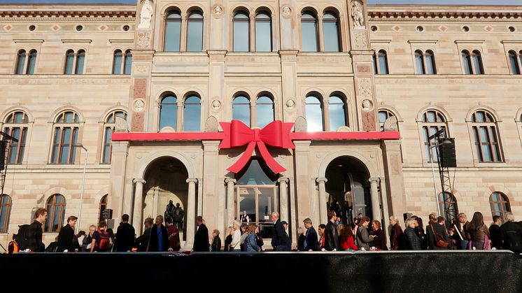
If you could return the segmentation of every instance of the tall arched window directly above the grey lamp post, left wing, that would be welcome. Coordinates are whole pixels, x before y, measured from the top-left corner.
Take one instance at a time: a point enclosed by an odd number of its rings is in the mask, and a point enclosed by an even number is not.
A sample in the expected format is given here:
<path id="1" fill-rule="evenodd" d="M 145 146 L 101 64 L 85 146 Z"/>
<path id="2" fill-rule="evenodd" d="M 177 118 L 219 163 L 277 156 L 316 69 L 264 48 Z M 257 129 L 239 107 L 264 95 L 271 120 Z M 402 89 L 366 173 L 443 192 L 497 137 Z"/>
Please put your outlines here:
<path id="1" fill-rule="evenodd" d="M 51 164 L 74 164 L 80 120 L 73 111 L 65 111 L 55 120 Z"/>

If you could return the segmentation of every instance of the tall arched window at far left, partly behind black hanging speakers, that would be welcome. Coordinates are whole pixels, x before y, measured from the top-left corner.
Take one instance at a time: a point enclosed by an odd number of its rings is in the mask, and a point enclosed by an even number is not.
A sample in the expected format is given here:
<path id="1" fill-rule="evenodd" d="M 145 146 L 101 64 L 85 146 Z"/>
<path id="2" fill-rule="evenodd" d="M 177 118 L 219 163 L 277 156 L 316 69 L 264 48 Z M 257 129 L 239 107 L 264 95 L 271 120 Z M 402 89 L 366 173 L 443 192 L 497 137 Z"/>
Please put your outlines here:
<path id="1" fill-rule="evenodd" d="M 27 129 L 29 119 L 22 111 L 15 111 L 7 115 L 3 124 L 3 132 L 13 136 L 18 141 L 10 141 L 8 164 L 22 164 L 24 160 L 25 142 L 27 141 Z"/>

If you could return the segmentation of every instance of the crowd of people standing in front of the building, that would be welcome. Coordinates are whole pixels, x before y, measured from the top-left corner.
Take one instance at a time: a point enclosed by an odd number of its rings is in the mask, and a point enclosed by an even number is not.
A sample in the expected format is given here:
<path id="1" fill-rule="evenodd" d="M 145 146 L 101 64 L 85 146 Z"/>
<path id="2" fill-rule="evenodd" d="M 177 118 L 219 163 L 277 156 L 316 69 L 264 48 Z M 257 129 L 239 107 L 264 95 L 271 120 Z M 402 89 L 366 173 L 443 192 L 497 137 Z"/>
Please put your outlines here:
<path id="1" fill-rule="evenodd" d="M 45 248 L 42 242 L 42 225 L 47 220 L 47 210 L 38 208 L 35 220 L 29 225 L 22 225 L 19 233 L 13 236 L 9 252 L 167 252 L 181 251 L 180 231 L 171 217 L 164 219 L 158 215 L 155 220 L 148 217 L 141 236 L 137 236 L 134 227 L 129 224 L 129 215 L 122 215 L 116 233 L 107 229 L 105 222 L 90 226 L 88 233 L 80 231 L 74 234 L 78 220 L 75 216 L 67 218 L 67 224 L 59 230 L 55 242 Z M 507 213 L 505 219 L 495 215 L 493 224 L 487 227 L 480 212 L 475 212 L 468 221 L 465 213 L 460 213 L 455 222 L 446 225 L 444 217 L 435 213 L 429 215 L 429 222 L 423 225 L 421 217 L 411 216 L 405 220 L 404 231 L 395 216 L 390 217 L 387 245 L 386 233 L 379 220 L 370 220 L 365 215 L 358 215 L 351 224 L 342 224 L 334 210 L 327 213 L 327 224 L 320 224 L 318 231 L 310 218 L 303 220 L 303 227 L 297 228 L 297 250 L 299 251 L 358 251 L 358 250 L 488 250 L 505 249 L 516 253 L 522 251 L 522 222 L 515 222 L 514 215 Z M 195 221 L 197 232 L 192 251 L 246 251 L 260 252 L 264 241 L 260 236 L 260 227 L 246 217 L 234 221 L 228 227 L 224 245 L 221 245 L 220 231 L 209 230 L 201 216 Z M 502 224 L 502 220 L 505 222 Z M 243 222 L 243 223 L 242 223 Z M 278 213 L 271 213 L 272 229 L 271 248 L 274 251 L 292 250 L 292 241 L 288 234 L 288 223 L 279 219 Z"/>

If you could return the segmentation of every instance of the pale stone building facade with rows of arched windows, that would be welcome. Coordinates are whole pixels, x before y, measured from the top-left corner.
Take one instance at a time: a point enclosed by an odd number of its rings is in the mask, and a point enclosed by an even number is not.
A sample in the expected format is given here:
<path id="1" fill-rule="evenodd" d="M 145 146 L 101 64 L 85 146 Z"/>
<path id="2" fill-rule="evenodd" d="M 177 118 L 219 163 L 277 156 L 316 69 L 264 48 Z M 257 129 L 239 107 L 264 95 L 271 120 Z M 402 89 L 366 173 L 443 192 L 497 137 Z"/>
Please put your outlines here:
<path id="1" fill-rule="evenodd" d="M 365 0 L 0 6 L 0 126 L 21 138 L 0 243 L 38 207 L 49 243 L 80 209 L 82 230 L 111 208 L 139 233 L 172 200 L 188 248 L 197 215 L 224 238 L 244 210 L 264 238 L 278 211 L 293 241 L 329 208 L 384 224 L 520 215 L 521 23 L 514 6 Z M 286 143 L 269 142 L 275 126 Z M 438 129 L 458 166 L 437 198 L 425 134 Z"/>

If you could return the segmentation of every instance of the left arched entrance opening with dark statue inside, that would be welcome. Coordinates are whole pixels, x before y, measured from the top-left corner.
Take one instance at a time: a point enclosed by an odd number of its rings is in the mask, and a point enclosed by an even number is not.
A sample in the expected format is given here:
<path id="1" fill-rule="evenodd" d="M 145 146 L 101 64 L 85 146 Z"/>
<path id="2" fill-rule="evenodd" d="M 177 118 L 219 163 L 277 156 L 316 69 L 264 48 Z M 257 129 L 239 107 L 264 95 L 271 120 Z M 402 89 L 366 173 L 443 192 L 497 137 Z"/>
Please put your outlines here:
<path id="1" fill-rule="evenodd" d="M 167 205 L 172 201 L 180 229 L 180 239 L 186 241 L 188 207 L 188 171 L 174 157 L 160 157 L 151 162 L 145 172 L 143 188 L 143 219 L 157 215 L 165 216 Z M 179 209 L 181 208 L 181 210 Z"/>

